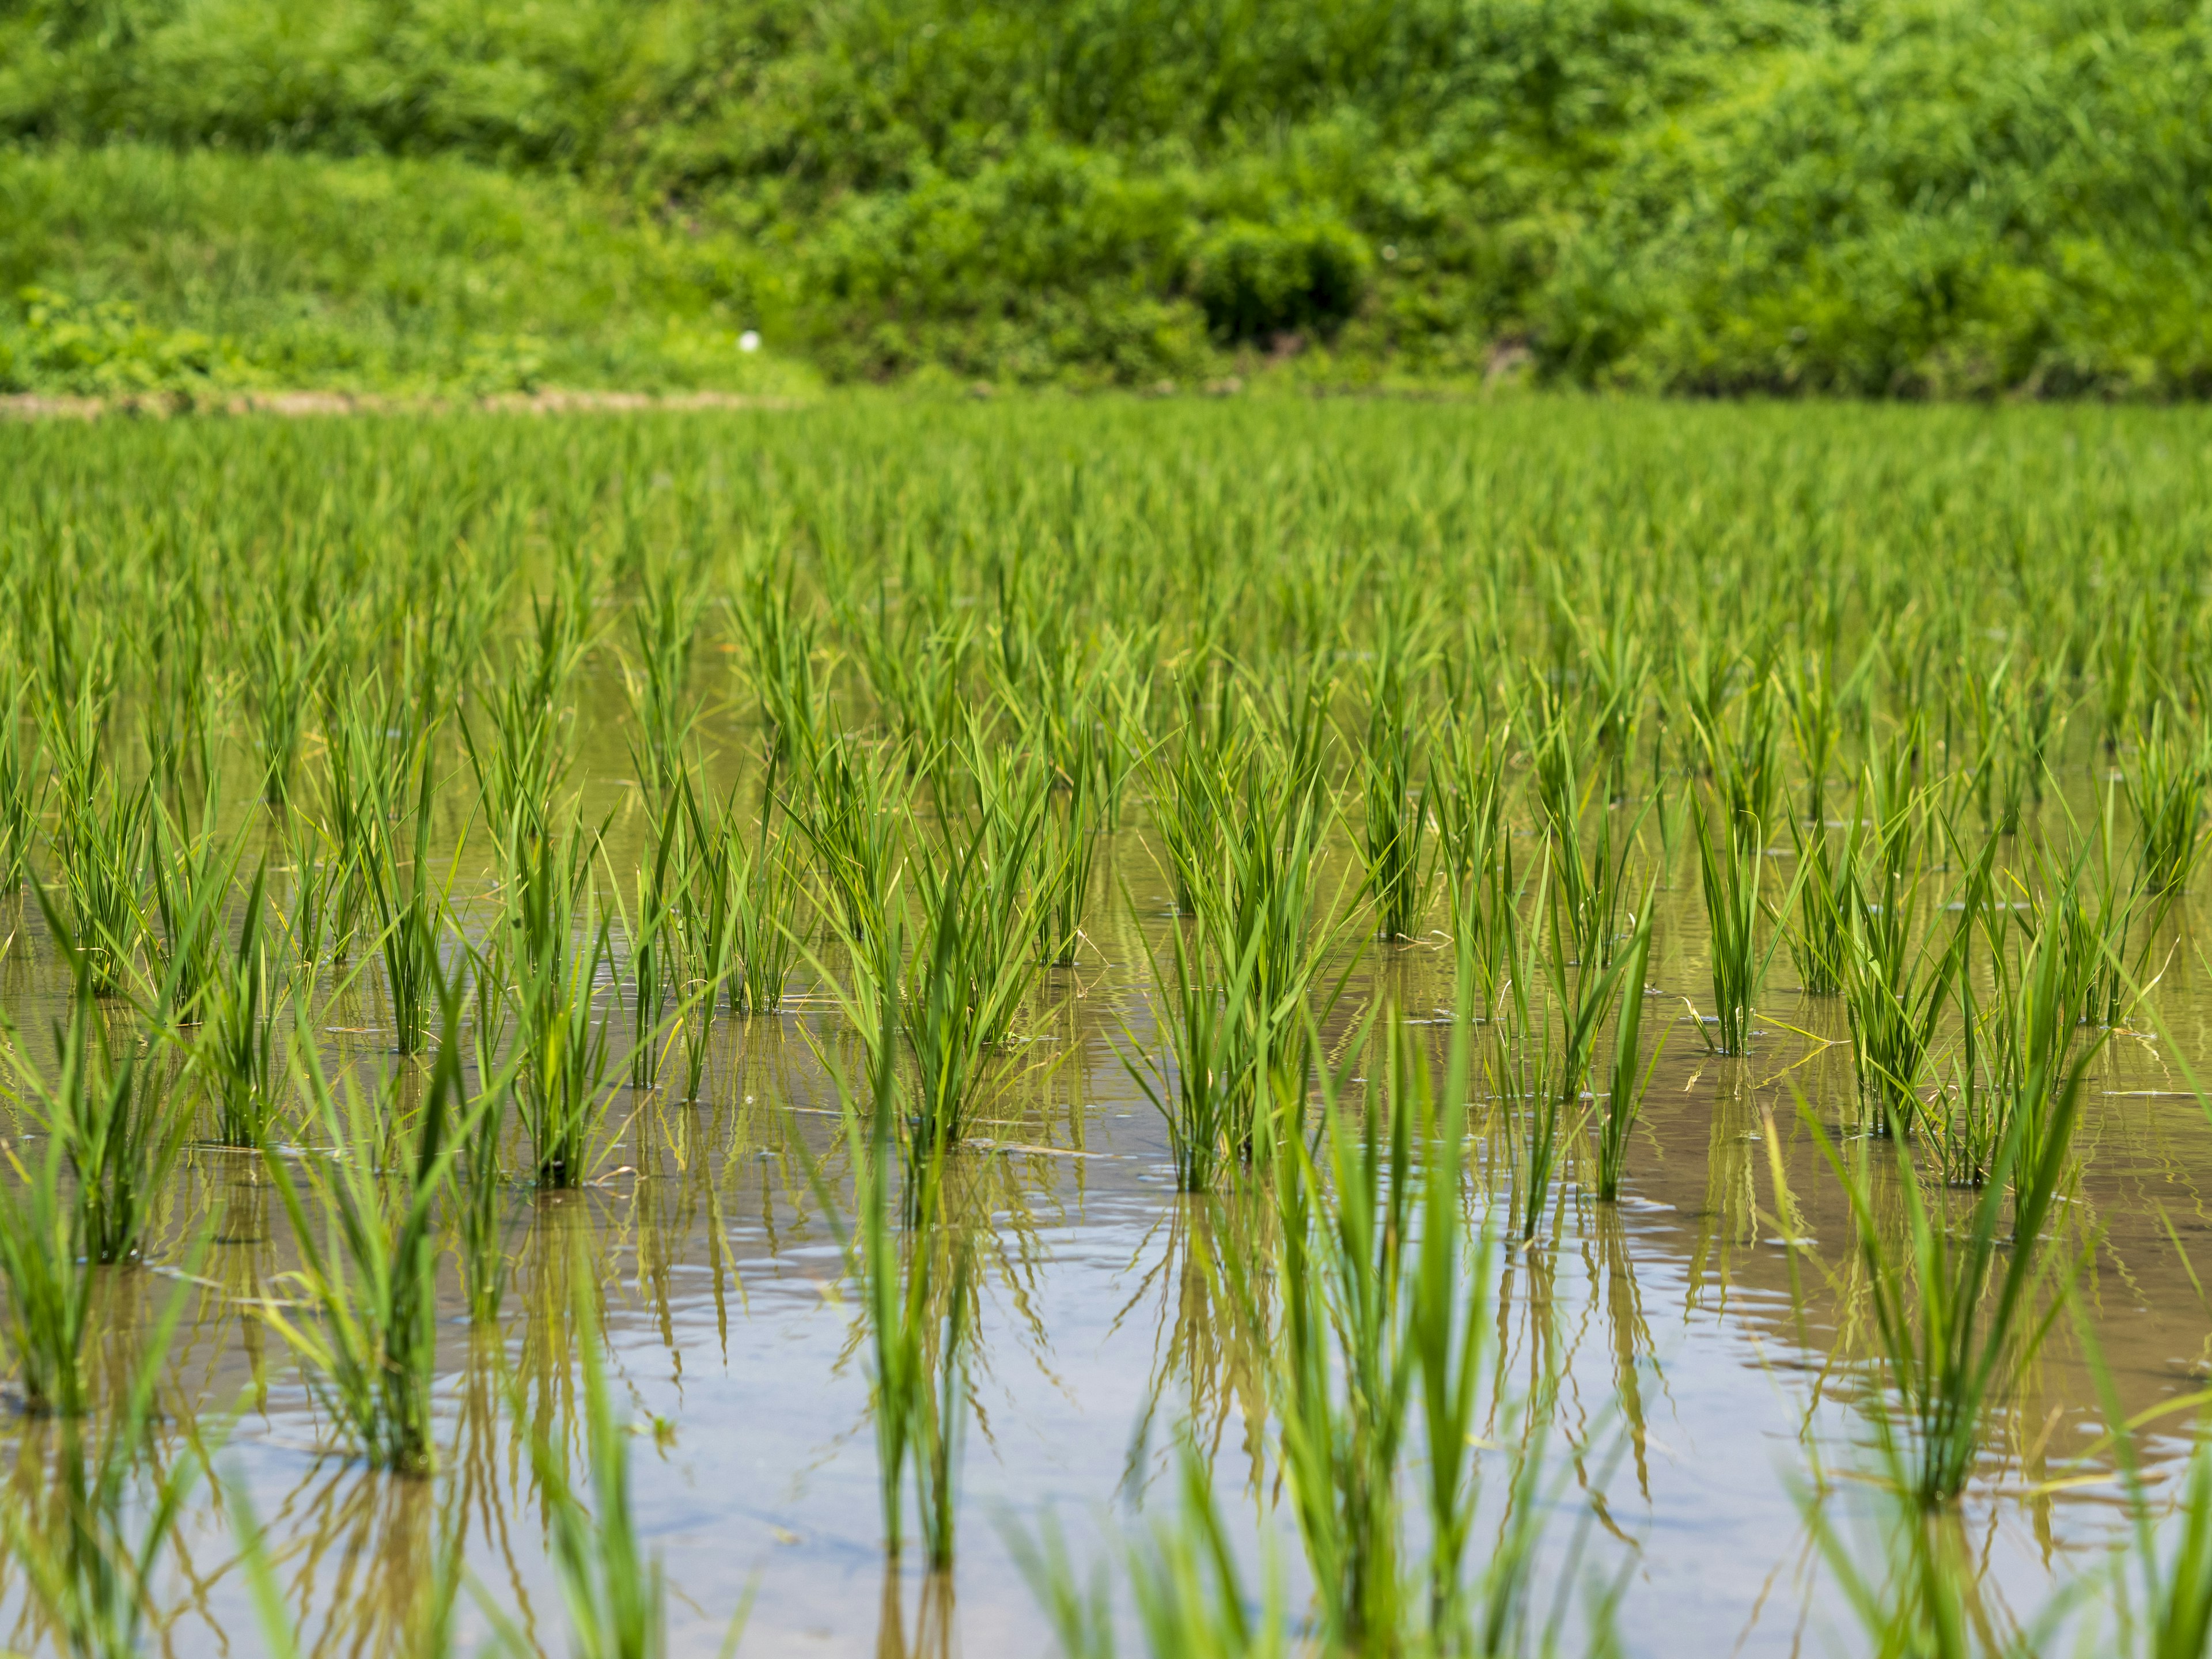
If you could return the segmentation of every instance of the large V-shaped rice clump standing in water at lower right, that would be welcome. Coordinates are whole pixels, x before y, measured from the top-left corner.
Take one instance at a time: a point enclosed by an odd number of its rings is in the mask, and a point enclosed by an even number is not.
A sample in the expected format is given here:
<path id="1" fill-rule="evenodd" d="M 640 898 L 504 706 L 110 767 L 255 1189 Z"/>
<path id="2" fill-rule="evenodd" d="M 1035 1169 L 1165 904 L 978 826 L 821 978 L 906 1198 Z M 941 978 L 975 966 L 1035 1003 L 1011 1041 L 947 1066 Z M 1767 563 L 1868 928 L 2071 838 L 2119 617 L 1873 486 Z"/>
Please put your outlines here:
<path id="1" fill-rule="evenodd" d="M 1889 1241 L 1874 1208 L 1869 1141 L 1847 1159 L 1801 1108 L 1851 1203 L 1876 1352 L 1896 1400 L 1878 1409 L 1876 1429 L 1896 1449 L 1909 1471 L 1907 1489 L 1924 1509 L 1964 1491 L 1984 1413 L 2008 1398 L 2079 1272 L 2079 1252 L 2046 1243 L 2044 1232 L 2073 1168 L 2081 1075 L 2095 1051 L 2090 1044 L 2064 1071 L 2033 1079 L 2035 1093 L 2008 1115 L 1989 1177 L 1960 1219 L 1933 1210 L 1909 1152 L 1896 1144 L 1902 1248 Z"/>

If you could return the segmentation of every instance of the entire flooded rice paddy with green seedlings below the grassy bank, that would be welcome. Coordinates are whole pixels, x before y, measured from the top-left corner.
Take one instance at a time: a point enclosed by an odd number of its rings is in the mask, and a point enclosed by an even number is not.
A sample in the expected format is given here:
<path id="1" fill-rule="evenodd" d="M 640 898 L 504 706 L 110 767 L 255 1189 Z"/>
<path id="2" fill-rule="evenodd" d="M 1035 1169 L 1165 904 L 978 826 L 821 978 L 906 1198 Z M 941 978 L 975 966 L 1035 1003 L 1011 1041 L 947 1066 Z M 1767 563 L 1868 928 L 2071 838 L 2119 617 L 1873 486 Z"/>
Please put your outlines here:
<path id="1" fill-rule="evenodd" d="M 2212 416 L 0 429 L 0 1628 L 2203 1655 Z"/>

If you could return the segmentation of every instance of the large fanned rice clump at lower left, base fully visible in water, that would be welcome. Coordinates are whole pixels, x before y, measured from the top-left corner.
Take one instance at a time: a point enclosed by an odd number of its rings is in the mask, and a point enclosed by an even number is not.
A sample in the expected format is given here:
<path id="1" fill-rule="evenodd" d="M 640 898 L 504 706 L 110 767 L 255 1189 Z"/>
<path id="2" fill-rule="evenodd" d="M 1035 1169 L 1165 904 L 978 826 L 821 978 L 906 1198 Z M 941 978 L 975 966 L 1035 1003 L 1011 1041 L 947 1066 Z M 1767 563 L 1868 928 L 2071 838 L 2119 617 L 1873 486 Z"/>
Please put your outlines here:
<path id="1" fill-rule="evenodd" d="M 316 1398 L 369 1464 L 400 1475 L 427 1475 L 438 1458 L 434 1214 L 469 1130 L 460 1117 L 458 984 L 440 982 L 438 1002 L 442 1037 L 396 1166 L 378 1168 L 387 1139 L 378 1104 L 352 1077 L 343 1091 L 332 1088 L 310 1031 L 292 1044 L 294 1068 L 316 1128 L 338 1150 L 303 1164 L 303 1175 L 274 1148 L 261 1155 L 301 1259 L 285 1279 L 312 1318 L 294 1318 L 279 1303 L 254 1314 L 301 1356 Z M 305 1194 L 314 1194 L 321 1217 L 307 1212 Z"/>

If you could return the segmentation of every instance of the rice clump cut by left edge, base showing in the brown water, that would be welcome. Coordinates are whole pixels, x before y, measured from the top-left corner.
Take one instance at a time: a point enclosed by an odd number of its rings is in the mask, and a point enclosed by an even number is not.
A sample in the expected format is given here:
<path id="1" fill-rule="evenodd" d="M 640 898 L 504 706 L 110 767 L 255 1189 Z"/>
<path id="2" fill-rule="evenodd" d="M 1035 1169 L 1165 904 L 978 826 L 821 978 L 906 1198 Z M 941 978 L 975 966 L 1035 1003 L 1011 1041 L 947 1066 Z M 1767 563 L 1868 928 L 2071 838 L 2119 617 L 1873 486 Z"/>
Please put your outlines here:
<path id="1" fill-rule="evenodd" d="M 46 1135 L 0 1157 L 18 1186 L 0 1197 L 0 1287 L 7 1290 L 7 1347 L 15 1360 L 22 1409 L 33 1416 L 84 1411 L 84 1349 L 93 1318 L 93 1265 L 84 1254 L 82 1210 L 62 1192 L 66 1141 Z"/>

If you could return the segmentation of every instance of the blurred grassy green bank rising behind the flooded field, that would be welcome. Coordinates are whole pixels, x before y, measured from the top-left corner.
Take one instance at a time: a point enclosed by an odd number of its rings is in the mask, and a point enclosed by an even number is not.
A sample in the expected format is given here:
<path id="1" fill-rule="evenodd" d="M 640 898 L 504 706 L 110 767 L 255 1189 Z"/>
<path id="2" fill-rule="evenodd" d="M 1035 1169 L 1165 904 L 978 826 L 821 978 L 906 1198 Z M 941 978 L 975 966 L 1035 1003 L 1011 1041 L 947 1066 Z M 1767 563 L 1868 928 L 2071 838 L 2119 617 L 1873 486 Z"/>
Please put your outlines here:
<path id="1" fill-rule="evenodd" d="M 2194 396 L 2205 108 L 2194 0 L 20 0 L 0 385 Z"/>

